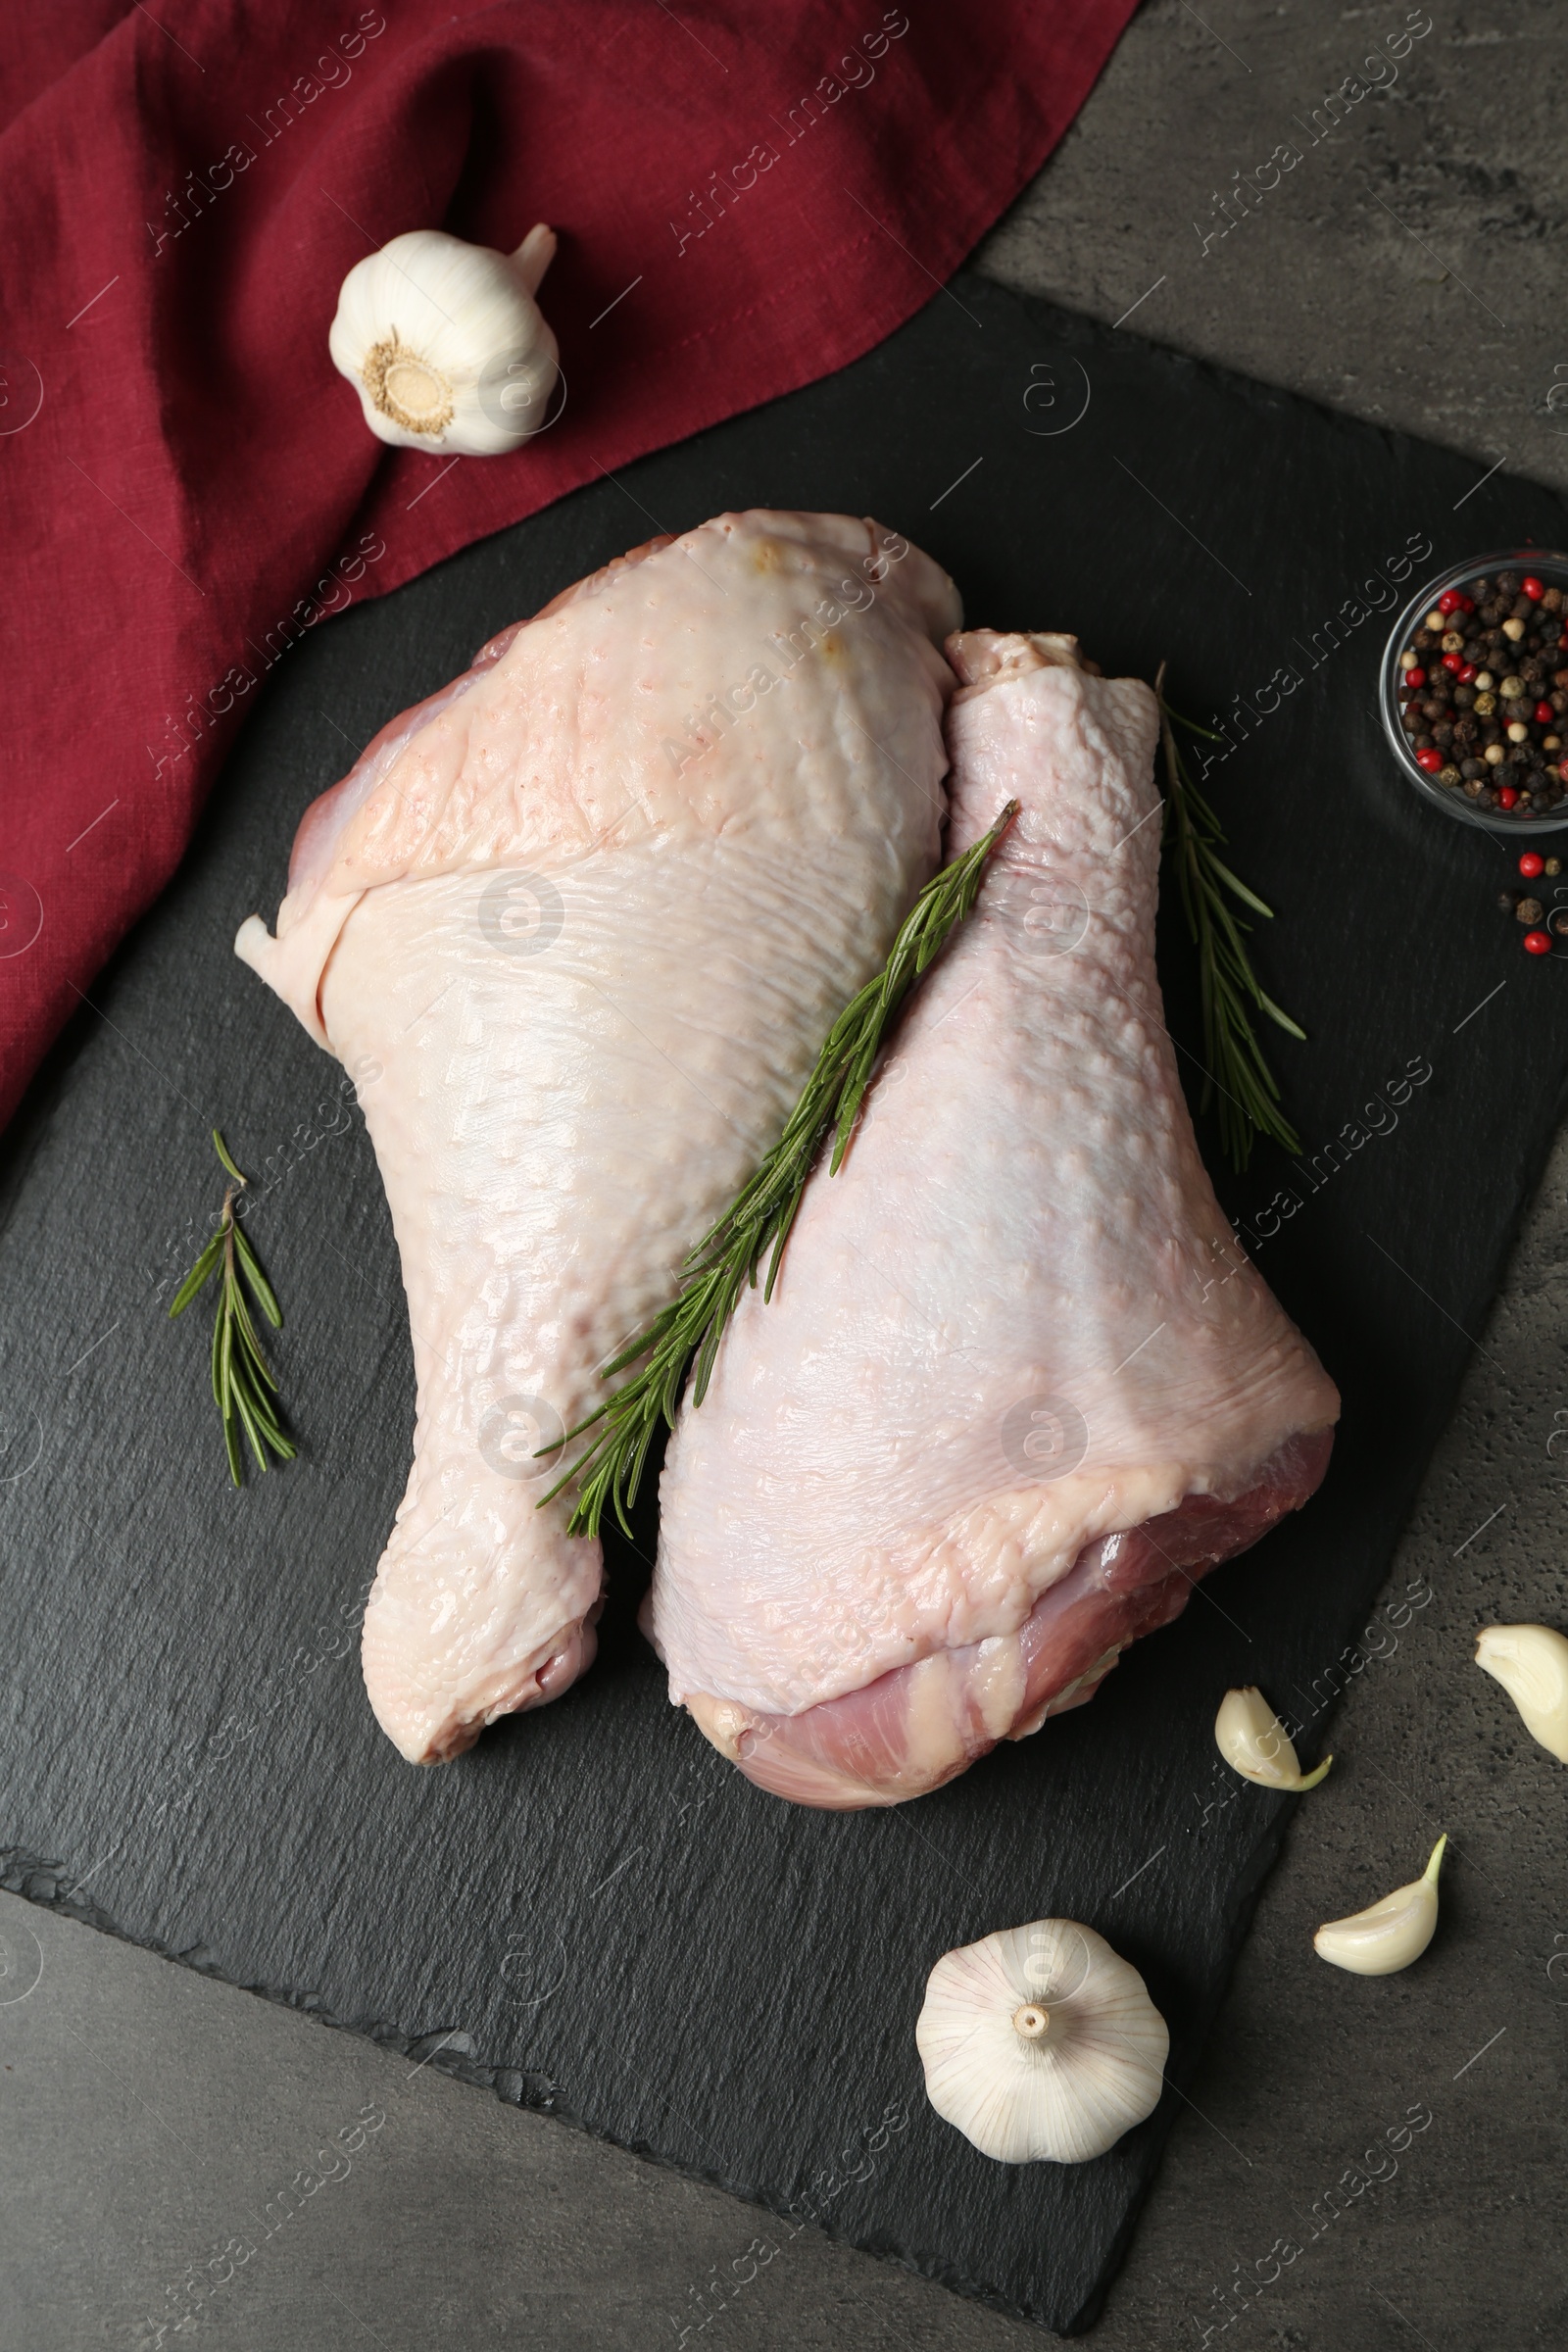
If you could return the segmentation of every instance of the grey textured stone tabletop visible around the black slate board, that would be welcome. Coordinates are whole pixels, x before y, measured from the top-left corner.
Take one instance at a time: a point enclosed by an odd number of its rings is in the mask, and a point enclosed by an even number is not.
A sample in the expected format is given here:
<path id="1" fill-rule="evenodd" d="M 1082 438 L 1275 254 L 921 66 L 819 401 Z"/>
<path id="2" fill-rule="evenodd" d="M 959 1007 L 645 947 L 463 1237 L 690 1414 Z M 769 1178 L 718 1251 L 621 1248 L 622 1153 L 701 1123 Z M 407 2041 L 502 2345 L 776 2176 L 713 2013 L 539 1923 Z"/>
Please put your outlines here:
<path id="1" fill-rule="evenodd" d="M 1363 59 L 1399 47 L 1406 24 L 1429 31 L 1396 80 L 1333 108 L 1338 127 L 1314 139 L 1326 94 L 1347 75 L 1363 87 Z M 1568 487 L 1554 78 L 1552 0 L 1432 0 L 1429 14 L 1157 0 L 980 263 L 1450 442 L 1476 477 L 1507 463 Z M 1220 235 L 1225 191 L 1284 141 L 1302 162 L 1234 198 Z M 1566 1185 L 1559 1145 L 1394 1564 L 1382 1656 L 1335 1724 L 1354 1769 L 1312 1799 L 1265 1889 L 1095 2331 L 1103 2352 L 1222 2336 L 1293 2352 L 1568 2343 L 1554 2016 L 1568 2004 L 1568 1780 L 1469 1663 L 1486 1618 L 1568 1623 Z M 1312 1926 L 1410 1877 L 1439 1830 L 1453 1870 L 1422 1969 L 1382 1983 L 1324 1969 Z M 362 2107 L 381 2126 L 214 2298 L 214 2343 L 661 2347 L 715 2265 L 745 2260 L 750 2209 L 433 2067 L 12 1896 L 0 1938 L 21 1971 L 0 1976 L 5 2352 L 150 2343 L 143 2314 L 186 2265 L 254 2234 Z M 1429 2122 L 1366 2183 L 1363 2152 L 1408 2110 Z M 1363 2185 L 1333 2197 L 1347 2176 Z M 816 2232 L 705 2338 L 729 2352 L 1041 2340 Z"/>

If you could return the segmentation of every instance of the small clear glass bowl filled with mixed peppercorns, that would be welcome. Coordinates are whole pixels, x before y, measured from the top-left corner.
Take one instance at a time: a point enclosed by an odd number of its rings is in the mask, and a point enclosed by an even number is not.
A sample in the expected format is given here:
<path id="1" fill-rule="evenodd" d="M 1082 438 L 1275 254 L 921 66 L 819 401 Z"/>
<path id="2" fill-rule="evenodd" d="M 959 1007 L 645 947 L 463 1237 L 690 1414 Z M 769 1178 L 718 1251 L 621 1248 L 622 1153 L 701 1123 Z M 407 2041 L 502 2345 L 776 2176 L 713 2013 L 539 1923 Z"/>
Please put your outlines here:
<path id="1" fill-rule="evenodd" d="M 1460 823 L 1568 828 L 1568 555 L 1479 555 L 1413 597 L 1382 661 L 1382 727 Z"/>

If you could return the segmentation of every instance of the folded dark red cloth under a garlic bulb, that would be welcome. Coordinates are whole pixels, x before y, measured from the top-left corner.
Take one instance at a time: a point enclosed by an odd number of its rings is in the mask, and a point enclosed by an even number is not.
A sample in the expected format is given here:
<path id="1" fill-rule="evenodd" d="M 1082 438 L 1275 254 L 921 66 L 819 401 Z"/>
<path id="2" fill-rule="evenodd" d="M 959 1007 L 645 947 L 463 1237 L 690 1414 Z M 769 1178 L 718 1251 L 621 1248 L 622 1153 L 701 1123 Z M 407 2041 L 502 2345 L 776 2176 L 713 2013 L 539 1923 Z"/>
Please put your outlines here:
<path id="1" fill-rule="evenodd" d="M 54 0 L 0 31 L 0 1122 L 306 628 L 844 367 L 1133 0 Z M 327 358 L 407 228 L 559 233 L 559 423 L 388 452 Z M 896 517 L 893 517 L 896 520 Z M 628 492 L 628 543 L 656 522 Z M 390 715 L 390 713 L 388 713 Z"/>

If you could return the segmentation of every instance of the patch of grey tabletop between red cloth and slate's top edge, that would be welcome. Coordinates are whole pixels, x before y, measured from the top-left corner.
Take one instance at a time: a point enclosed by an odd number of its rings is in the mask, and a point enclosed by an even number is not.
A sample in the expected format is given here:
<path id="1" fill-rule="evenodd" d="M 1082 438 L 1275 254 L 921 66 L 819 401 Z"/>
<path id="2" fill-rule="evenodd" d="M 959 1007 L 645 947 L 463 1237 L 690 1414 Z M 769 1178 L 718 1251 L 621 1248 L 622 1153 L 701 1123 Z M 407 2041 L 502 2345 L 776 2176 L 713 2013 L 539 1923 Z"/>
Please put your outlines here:
<path id="1" fill-rule="evenodd" d="M 1561 45 L 1554 0 L 1157 0 L 978 263 L 1563 487 Z M 1331 108 L 1347 75 L 1366 94 Z M 1300 162 L 1225 230 L 1218 200 L 1288 141 Z"/>

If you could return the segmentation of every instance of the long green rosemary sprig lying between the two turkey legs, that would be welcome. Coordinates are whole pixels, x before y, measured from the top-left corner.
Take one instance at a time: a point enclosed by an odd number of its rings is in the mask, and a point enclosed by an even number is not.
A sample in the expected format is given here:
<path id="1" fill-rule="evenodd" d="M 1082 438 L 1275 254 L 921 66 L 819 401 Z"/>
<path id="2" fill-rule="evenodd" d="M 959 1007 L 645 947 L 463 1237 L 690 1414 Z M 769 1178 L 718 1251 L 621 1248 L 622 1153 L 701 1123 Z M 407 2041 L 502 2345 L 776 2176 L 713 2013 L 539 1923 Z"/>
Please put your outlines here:
<path id="1" fill-rule="evenodd" d="M 686 1256 L 677 1296 L 604 1364 L 602 1378 L 614 1381 L 628 1364 L 646 1357 L 642 1371 L 557 1439 L 557 1444 L 571 1444 L 585 1430 L 599 1428 L 588 1451 L 541 1496 L 543 1508 L 574 1479 L 578 1482 L 569 1534 L 597 1536 L 604 1508 L 611 1505 L 630 1536 L 628 1505 L 637 1496 L 658 1423 L 668 1421 L 675 1428 L 675 1409 L 691 1359 L 696 1357 L 693 1402 L 701 1404 L 708 1395 L 724 1324 L 733 1315 L 743 1287 L 757 1284 L 757 1268 L 771 1247 L 773 1256 L 762 1296 L 773 1296 L 778 1261 L 820 1143 L 832 1129 L 830 1174 L 837 1176 L 882 1042 L 914 981 L 971 913 L 980 894 L 985 861 L 1016 814 L 1018 802 L 1009 800 L 990 833 L 926 882 L 886 964 L 832 1023 L 783 1136 L 717 1225 Z M 545 1446 L 543 1451 L 555 1449 Z"/>

